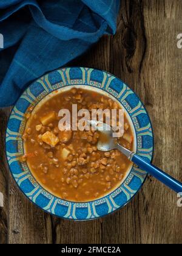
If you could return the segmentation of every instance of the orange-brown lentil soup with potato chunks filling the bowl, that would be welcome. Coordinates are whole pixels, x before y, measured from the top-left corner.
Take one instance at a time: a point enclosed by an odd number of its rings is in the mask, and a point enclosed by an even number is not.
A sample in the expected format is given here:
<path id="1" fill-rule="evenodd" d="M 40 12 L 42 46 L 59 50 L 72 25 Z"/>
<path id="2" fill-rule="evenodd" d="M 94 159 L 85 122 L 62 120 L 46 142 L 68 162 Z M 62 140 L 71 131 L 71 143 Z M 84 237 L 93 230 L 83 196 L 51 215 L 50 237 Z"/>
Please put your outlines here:
<path id="1" fill-rule="evenodd" d="M 117 149 L 101 152 L 96 148 L 98 131 L 58 129 L 60 109 L 72 113 L 72 104 L 91 111 L 120 109 L 121 106 L 105 94 L 83 88 L 55 93 L 36 111 L 29 108 L 24 135 L 24 156 L 36 180 L 47 191 L 68 201 L 86 202 L 98 199 L 119 187 L 132 163 Z M 124 114 L 124 135 L 119 143 L 133 149 L 133 133 Z"/>

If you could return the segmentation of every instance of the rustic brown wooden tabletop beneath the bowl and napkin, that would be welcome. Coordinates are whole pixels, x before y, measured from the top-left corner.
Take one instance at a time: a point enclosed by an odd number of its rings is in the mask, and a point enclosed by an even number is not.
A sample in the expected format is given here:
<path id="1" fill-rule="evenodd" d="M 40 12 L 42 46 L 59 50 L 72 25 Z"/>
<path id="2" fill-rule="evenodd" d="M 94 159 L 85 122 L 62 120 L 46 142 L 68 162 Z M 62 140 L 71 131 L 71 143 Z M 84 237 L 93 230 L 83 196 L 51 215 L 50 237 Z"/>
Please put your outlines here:
<path id="1" fill-rule="evenodd" d="M 122 0 L 116 35 L 103 37 L 72 65 L 109 71 L 138 93 L 153 124 L 153 163 L 182 181 L 181 13 L 181 0 Z M 8 172 L 3 145 L 9 113 L 0 110 L 0 244 L 182 242 L 177 195 L 152 177 L 132 202 L 102 219 L 72 222 L 42 212 Z"/>

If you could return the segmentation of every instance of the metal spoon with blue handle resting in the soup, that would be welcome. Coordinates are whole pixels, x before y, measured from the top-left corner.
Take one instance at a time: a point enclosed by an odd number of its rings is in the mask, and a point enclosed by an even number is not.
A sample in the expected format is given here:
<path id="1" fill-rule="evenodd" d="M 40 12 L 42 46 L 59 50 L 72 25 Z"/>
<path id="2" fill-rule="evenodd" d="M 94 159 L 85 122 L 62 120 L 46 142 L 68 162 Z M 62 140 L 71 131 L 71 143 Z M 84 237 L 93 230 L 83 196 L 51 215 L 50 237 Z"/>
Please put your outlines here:
<path id="1" fill-rule="evenodd" d="M 163 182 L 167 187 L 171 188 L 177 193 L 182 192 L 182 183 L 178 180 L 175 180 L 173 177 L 169 176 L 166 172 L 161 171 L 161 169 L 157 168 L 156 166 L 152 165 L 151 163 L 147 163 L 143 158 L 138 156 L 132 151 L 121 146 L 116 138 L 112 137 L 113 130 L 112 128 L 105 123 L 91 120 L 89 124 L 100 132 L 99 141 L 97 144 L 97 149 L 99 151 L 111 151 L 112 149 L 118 149 L 121 153 L 126 155 L 126 157 L 135 163 L 136 165 L 140 166 L 141 169 L 147 171 L 156 179 Z"/>

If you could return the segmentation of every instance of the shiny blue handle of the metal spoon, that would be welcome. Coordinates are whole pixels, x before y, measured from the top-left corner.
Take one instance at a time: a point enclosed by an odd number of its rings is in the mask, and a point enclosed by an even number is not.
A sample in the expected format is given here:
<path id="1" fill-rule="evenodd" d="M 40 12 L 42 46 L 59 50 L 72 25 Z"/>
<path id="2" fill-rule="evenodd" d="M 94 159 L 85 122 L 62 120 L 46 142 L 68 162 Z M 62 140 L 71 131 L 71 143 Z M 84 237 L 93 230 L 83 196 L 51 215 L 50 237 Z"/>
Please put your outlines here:
<path id="1" fill-rule="evenodd" d="M 163 182 L 167 187 L 171 188 L 177 193 L 182 192 L 182 183 L 169 176 L 166 172 L 161 171 L 161 169 L 157 168 L 151 163 L 145 162 L 143 158 L 136 154 L 132 156 L 131 160 L 133 163 L 140 166 L 141 169 L 149 172 L 149 174 L 151 174 L 153 177 Z"/>

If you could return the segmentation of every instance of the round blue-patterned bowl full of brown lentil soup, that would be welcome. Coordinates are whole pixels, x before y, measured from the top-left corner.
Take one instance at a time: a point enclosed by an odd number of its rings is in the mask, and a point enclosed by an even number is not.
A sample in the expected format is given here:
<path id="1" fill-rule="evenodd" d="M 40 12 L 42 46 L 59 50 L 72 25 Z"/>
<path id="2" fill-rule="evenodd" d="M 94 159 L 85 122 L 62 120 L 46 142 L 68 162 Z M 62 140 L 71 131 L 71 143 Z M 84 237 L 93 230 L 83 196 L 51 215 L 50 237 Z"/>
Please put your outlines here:
<path id="1" fill-rule="evenodd" d="M 123 109 L 118 141 L 151 161 L 152 127 L 140 99 L 120 79 L 90 68 L 58 69 L 25 90 L 8 122 L 7 159 L 19 188 L 43 210 L 93 219 L 127 204 L 147 174 L 117 150 L 98 151 L 98 131 L 59 130 L 59 110 L 72 116 L 73 105 Z"/>

